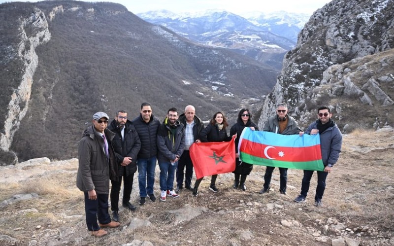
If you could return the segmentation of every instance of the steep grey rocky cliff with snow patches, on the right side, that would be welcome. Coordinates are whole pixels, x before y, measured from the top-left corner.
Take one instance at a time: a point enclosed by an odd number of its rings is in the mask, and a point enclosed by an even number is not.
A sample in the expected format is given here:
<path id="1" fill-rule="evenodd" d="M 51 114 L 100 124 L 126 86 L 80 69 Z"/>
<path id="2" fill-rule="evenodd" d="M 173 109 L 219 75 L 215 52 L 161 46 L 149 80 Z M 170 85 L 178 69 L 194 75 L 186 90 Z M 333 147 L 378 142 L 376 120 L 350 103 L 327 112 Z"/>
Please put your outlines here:
<path id="1" fill-rule="evenodd" d="M 287 102 L 303 127 L 319 105 L 344 132 L 393 126 L 393 9 L 392 0 L 333 0 L 317 10 L 285 56 L 259 125 Z"/>

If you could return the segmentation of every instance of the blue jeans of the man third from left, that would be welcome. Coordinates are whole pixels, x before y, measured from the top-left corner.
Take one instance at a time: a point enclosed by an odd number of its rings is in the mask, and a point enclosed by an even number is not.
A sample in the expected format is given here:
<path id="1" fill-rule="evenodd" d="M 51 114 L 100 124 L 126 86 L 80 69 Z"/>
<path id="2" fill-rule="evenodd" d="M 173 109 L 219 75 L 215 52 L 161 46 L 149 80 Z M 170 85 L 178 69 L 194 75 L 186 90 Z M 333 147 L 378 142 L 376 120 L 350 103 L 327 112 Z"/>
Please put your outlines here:
<path id="1" fill-rule="evenodd" d="M 146 197 L 153 194 L 153 184 L 155 183 L 156 156 L 151 158 L 138 158 L 138 186 L 139 196 Z"/>

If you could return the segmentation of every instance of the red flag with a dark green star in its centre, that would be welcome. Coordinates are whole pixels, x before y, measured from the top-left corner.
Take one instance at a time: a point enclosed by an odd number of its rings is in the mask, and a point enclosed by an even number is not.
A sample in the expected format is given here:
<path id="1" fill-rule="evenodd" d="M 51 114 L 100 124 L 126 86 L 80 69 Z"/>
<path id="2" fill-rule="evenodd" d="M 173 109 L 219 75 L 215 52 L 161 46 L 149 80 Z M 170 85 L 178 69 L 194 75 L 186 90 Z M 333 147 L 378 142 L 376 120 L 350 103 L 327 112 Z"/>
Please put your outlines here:
<path id="1" fill-rule="evenodd" d="M 190 146 L 197 179 L 235 170 L 235 136 L 230 142 L 196 142 Z"/>

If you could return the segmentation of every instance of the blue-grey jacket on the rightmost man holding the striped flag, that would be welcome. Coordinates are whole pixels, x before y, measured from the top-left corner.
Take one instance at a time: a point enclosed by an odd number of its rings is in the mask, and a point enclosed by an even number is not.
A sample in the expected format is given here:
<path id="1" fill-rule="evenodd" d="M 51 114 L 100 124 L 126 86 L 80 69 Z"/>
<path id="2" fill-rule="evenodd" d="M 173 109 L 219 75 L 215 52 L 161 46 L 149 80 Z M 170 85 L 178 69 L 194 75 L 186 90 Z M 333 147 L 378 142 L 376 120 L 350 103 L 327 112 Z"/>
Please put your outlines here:
<path id="1" fill-rule="evenodd" d="M 317 121 L 308 126 L 305 134 L 310 134 L 312 129 L 317 129 Z M 338 161 L 341 148 L 342 133 L 336 124 L 320 134 L 320 149 L 324 166 L 328 164 L 334 165 Z"/>

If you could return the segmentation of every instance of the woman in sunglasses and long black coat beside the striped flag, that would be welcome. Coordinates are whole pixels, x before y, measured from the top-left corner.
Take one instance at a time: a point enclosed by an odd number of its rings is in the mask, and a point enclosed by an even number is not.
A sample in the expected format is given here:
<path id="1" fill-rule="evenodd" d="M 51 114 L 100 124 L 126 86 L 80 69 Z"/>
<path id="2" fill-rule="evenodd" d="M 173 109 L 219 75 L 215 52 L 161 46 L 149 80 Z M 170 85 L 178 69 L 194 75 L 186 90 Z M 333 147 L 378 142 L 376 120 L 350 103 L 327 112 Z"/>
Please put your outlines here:
<path id="1" fill-rule="evenodd" d="M 237 123 L 235 123 L 230 129 L 230 136 L 237 134 L 237 136 L 241 136 L 242 130 L 245 127 L 250 127 L 252 131 L 259 131 L 259 127 L 252 121 L 252 114 L 248 108 L 242 108 L 238 113 Z M 253 165 L 242 162 L 239 160 L 238 153 L 238 142 L 239 138 L 235 139 L 235 170 L 234 170 L 234 185 L 232 186 L 234 189 L 242 189 L 246 190 L 245 180 L 246 176 L 250 174 L 253 169 Z M 241 176 L 241 180 L 239 180 L 239 176 Z"/>

